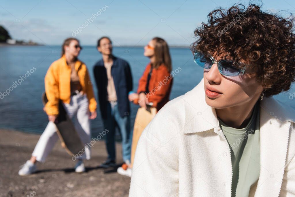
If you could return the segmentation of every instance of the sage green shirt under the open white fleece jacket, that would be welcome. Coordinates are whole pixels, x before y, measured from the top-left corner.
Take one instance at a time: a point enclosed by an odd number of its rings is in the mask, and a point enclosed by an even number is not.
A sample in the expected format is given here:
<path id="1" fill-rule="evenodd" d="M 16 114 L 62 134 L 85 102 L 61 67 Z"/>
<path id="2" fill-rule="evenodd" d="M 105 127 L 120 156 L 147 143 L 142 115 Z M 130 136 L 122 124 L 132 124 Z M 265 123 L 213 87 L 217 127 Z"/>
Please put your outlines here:
<path id="1" fill-rule="evenodd" d="M 232 159 L 232 197 L 249 196 L 250 187 L 260 174 L 259 101 L 245 128 L 232 128 L 219 118 L 220 127 L 230 145 Z"/>

